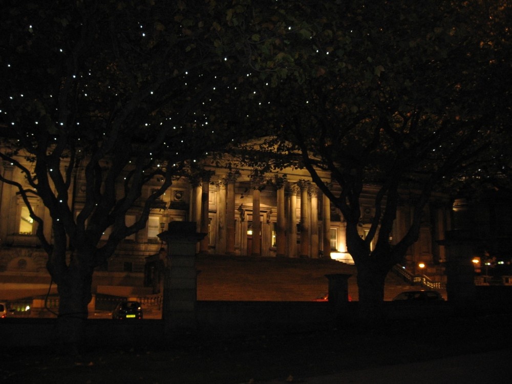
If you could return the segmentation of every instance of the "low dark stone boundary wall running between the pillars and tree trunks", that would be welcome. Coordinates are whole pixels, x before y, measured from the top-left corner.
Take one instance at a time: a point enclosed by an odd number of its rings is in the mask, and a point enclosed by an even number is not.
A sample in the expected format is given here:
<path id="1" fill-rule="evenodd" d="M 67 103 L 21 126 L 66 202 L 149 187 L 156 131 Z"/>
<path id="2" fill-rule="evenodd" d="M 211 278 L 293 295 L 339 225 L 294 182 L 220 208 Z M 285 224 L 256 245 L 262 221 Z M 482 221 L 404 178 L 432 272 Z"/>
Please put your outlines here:
<path id="1" fill-rule="evenodd" d="M 508 288 L 508 287 L 507 287 Z M 486 313 L 512 313 L 511 290 L 502 300 L 488 300 L 485 292 L 471 306 L 459 308 L 450 302 L 385 302 L 385 315 L 392 321 L 411 318 L 474 316 Z M 356 320 L 357 302 L 345 303 L 333 311 L 329 302 L 212 302 L 197 303 L 199 335 L 242 335 L 305 332 L 329 327 L 350 328 Z M 4 318 L 0 340 L 4 348 L 55 346 L 55 318 Z M 86 323 L 86 347 L 164 346 L 164 322 L 144 319 L 117 322 L 112 319 L 89 319 Z"/>

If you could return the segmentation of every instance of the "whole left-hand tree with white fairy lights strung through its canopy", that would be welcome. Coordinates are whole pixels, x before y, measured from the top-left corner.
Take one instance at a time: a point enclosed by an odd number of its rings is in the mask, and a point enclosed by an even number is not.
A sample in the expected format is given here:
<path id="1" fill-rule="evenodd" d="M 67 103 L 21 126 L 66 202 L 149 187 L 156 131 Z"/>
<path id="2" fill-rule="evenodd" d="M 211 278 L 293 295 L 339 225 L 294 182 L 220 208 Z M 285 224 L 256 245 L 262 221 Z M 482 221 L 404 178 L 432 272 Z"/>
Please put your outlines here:
<path id="1" fill-rule="evenodd" d="M 61 322 L 87 318 L 93 269 L 145 227 L 173 180 L 244 138 L 227 112 L 253 96 L 243 87 L 247 39 L 237 19 L 248 5 L 79 0 L 4 7 L 0 157 L 25 180 L 1 180 L 37 222 Z M 80 206 L 73 204 L 77 176 L 86 185 Z M 44 203 L 49 221 L 31 196 Z M 134 207 L 137 221 L 126 224 Z M 76 340 L 75 331 L 71 325 L 65 337 Z"/>

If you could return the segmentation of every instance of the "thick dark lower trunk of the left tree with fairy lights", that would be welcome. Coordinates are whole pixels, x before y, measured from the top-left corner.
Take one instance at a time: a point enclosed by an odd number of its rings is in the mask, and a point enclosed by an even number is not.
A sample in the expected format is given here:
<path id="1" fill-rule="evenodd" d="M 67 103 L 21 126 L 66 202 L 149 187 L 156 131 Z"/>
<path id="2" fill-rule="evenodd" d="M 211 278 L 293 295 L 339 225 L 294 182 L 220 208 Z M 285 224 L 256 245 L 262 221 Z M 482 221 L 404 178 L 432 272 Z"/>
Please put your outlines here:
<path id="1" fill-rule="evenodd" d="M 88 305 L 91 302 L 93 268 L 83 254 L 73 255 L 69 265 L 51 268 L 59 293 L 58 342 L 65 353 L 78 353 L 83 344 Z"/>

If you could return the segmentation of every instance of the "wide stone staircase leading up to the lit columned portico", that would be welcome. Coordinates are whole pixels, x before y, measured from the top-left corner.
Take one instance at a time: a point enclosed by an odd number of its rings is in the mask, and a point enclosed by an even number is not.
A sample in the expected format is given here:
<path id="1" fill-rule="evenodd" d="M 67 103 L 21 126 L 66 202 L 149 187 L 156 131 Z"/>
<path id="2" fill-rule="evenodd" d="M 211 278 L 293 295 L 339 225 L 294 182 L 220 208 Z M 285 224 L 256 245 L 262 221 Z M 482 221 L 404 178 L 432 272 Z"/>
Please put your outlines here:
<path id="1" fill-rule="evenodd" d="M 198 300 L 312 301 L 328 291 L 326 274 L 350 274 L 349 295 L 358 300 L 354 265 L 325 259 L 251 258 L 199 255 Z M 386 301 L 404 290 L 429 289 L 409 284 L 395 273 L 386 278 Z"/>

